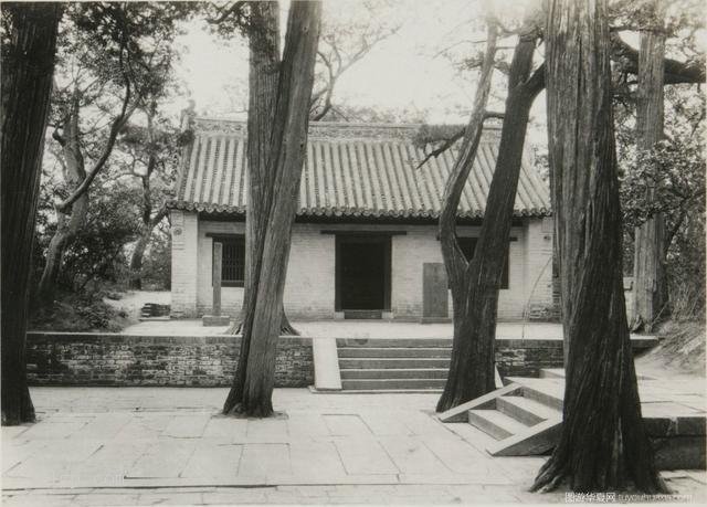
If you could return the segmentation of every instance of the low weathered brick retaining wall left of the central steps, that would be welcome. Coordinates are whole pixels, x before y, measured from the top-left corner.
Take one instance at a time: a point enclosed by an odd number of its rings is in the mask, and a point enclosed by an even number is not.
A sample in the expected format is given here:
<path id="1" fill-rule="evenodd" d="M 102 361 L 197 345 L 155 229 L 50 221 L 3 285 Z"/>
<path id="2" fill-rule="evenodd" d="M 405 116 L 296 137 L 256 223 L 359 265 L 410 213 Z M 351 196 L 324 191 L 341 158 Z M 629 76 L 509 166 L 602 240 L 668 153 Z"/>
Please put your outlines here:
<path id="1" fill-rule="evenodd" d="M 235 336 L 127 336 L 28 332 L 31 385 L 230 385 L 241 347 Z M 282 337 L 275 387 L 314 383 L 312 339 Z"/>

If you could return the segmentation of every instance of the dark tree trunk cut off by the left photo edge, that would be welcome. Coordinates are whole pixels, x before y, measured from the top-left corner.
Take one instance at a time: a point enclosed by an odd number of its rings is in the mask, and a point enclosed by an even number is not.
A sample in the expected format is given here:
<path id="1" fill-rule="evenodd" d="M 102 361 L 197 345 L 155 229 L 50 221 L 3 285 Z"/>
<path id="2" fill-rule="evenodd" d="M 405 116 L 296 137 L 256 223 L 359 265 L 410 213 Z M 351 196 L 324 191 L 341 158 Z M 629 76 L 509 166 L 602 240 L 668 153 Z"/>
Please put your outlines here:
<path id="1" fill-rule="evenodd" d="M 34 421 L 25 332 L 59 3 L 10 3 L 2 59 L 2 425 Z M 7 56 L 7 59 L 6 59 Z"/>

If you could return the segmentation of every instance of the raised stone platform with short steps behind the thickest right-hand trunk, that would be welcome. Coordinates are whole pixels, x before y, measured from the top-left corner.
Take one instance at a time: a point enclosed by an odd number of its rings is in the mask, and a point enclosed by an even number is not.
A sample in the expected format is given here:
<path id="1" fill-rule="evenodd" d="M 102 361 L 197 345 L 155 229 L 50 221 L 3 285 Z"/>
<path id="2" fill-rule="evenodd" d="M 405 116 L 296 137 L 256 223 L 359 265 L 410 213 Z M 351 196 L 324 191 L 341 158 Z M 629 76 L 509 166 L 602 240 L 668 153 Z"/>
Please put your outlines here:
<path id="1" fill-rule="evenodd" d="M 555 370 L 541 371 L 541 378 L 507 377 L 507 385 L 455 406 L 439 419 L 445 423 L 468 423 L 473 427 L 462 424 L 453 431 L 475 440 L 493 456 L 548 454 L 562 429 L 563 377 L 563 372 Z M 642 377 L 639 382 L 642 397 L 650 400 L 642 402 L 643 421 L 658 469 L 704 469 L 707 465 L 704 398 L 690 394 L 695 387 L 689 382 L 685 385 L 673 382 L 674 393 L 666 392 L 659 380 Z"/>

